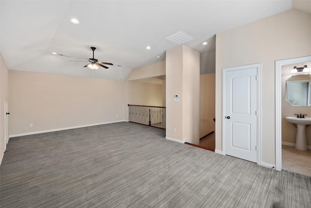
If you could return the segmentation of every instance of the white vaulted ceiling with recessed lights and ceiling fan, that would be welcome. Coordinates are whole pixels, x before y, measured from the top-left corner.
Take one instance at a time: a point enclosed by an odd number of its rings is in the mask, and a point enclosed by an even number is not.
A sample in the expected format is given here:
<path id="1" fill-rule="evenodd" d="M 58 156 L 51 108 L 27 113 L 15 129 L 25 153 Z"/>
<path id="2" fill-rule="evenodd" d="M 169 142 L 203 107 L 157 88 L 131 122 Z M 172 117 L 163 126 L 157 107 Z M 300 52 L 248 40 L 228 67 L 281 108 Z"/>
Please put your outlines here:
<path id="1" fill-rule="evenodd" d="M 123 80 L 165 60 L 177 46 L 165 37 L 180 30 L 194 38 L 184 45 L 206 54 L 215 45 L 202 43 L 215 34 L 289 9 L 291 0 L 1 0 L 0 50 L 11 70 Z M 69 62 L 92 57 L 91 46 L 95 58 L 115 66 L 93 72 Z"/>

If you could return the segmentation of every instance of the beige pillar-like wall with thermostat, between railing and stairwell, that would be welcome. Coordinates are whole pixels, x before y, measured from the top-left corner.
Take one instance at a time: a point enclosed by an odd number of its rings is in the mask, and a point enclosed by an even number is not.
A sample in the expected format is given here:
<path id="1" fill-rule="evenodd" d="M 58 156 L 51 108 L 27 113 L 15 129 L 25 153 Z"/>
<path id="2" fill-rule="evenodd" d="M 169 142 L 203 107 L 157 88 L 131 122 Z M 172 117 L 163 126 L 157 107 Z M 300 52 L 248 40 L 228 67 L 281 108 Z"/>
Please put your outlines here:
<path id="1" fill-rule="evenodd" d="M 179 95 L 179 102 L 173 102 Z M 200 54 L 184 45 L 166 51 L 166 136 L 199 144 Z M 176 132 L 173 132 L 176 128 Z"/>

